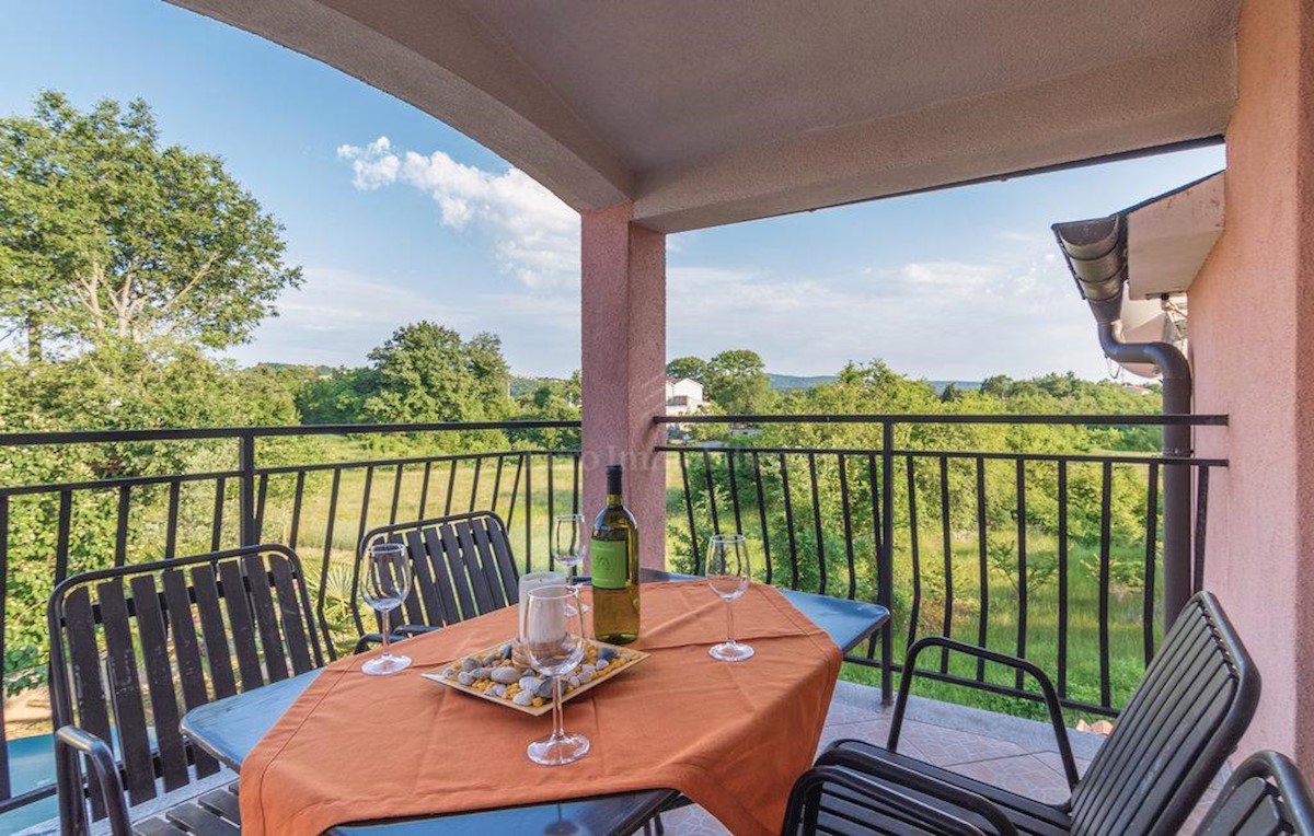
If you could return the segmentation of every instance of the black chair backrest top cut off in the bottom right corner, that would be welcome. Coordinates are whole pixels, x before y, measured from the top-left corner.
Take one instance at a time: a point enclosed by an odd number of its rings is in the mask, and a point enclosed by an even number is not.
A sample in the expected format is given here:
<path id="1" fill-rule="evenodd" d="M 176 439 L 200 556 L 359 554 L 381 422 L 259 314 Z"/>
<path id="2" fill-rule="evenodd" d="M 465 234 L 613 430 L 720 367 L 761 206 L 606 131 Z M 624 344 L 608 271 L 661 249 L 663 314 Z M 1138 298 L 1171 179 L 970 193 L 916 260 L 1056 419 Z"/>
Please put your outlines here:
<path id="1" fill-rule="evenodd" d="M 1314 799 L 1301 770 L 1285 755 L 1256 752 L 1227 778 L 1196 833 L 1314 836 Z"/>

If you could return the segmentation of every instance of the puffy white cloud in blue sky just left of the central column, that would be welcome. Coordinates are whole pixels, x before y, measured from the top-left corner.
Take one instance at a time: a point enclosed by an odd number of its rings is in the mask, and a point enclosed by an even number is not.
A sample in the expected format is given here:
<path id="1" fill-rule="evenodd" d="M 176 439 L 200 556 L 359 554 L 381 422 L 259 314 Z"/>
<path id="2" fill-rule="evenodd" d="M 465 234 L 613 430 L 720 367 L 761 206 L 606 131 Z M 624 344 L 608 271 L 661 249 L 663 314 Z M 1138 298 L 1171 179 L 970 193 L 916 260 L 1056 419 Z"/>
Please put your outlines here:
<path id="1" fill-rule="evenodd" d="M 502 268 L 526 287 L 555 291 L 578 285 L 579 215 L 524 172 L 487 172 L 442 151 L 428 156 L 402 151 L 386 136 L 363 147 L 339 146 L 338 156 L 351 161 L 357 189 L 401 182 L 432 197 L 443 226 L 484 238 Z"/>

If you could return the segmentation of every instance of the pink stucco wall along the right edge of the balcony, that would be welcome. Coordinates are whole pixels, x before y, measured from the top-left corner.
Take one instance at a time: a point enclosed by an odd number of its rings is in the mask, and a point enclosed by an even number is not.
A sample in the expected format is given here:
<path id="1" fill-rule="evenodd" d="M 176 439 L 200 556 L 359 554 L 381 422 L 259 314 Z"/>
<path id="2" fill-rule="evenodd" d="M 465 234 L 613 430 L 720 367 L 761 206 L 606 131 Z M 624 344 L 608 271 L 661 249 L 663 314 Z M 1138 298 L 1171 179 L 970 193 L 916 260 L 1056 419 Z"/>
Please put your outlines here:
<path id="1" fill-rule="evenodd" d="M 1238 755 L 1314 774 L 1314 0 L 1246 0 L 1227 127 L 1226 231 L 1190 289 L 1197 451 L 1210 484 L 1205 585 L 1264 679 Z"/>

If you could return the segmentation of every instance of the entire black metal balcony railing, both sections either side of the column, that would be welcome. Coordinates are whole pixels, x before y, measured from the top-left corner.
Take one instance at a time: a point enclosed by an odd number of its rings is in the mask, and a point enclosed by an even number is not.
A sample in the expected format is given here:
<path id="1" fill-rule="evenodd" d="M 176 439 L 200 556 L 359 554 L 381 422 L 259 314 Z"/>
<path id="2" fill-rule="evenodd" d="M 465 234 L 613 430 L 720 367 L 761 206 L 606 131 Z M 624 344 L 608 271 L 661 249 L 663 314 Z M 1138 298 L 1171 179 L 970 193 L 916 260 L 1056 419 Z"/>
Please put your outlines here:
<path id="1" fill-rule="evenodd" d="M 1209 471 L 1226 465 L 896 444 L 907 428 L 936 423 L 1164 421 L 1146 416 L 654 420 L 879 428 L 883 444 L 870 448 L 753 446 L 752 436 L 658 448 L 671 463 L 669 566 L 696 571 L 706 537 L 733 528 L 757 541 L 762 580 L 891 608 L 895 627 L 849 658 L 886 684 L 907 642 L 943 631 L 1031 658 L 1055 672 L 1066 705 L 1105 714 L 1125 700 L 1122 682 L 1135 681 L 1159 637 L 1160 475 L 1167 467 L 1196 474 L 1198 584 Z M 374 525 L 493 509 L 523 567 L 547 567 L 552 516 L 579 511 L 578 430 L 577 421 L 511 421 L 0 436 L 7 685 L 43 679 L 45 601 L 55 583 L 91 568 L 284 542 L 301 553 L 314 604 L 346 648 L 355 639 L 346 610 L 351 560 Z M 1127 484 L 1142 497 L 1130 512 L 1120 507 Z M 1135 566 L 1120 530 L 1129 513 L 1143 525 Z M 1001 520 L 1007 542 L 999 542 Z M 1012 679 L 945 660 L 920 673 L 1028 696 Z M 3 721 L 0 711 L 0 728 Z M 54 791 L 16 785 L 12 774 L 0 745 L 0 814 Z"/>

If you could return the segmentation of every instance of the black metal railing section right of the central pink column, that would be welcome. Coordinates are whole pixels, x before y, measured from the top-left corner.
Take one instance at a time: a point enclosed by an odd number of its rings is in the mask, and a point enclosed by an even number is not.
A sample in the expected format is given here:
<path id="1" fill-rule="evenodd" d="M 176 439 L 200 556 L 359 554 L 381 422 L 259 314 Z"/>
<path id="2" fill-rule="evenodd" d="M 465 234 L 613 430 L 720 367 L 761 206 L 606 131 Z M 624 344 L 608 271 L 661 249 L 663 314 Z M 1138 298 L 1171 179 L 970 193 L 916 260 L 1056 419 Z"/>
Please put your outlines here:
<path id="1" fill-rule="evenodd" d="M 731 424 L 716 446 L 660 446 L 674 458 L 683 555 L 698 571 L 712 530 L 759 543 L 767 583 L 882 604 L 891 627 L 849 661 L 878 668 L 886 696 L 903 651 L 943 634 L 1028 658 L 1051 671 L 1064 706 L 1114 715 L 1154 655 L 1166 618 L 1160 554 L 1189 538 L 1189 588 L 1204 583 L 1209 474 L 1223 459 L 1104 451 L 964 451 L 900 445 L 936 424 L 1218 427 L 1226 416 L 808 415 L 658 417 L 661 424 Z M 756 446 L 745 428 L 867 424 L 880 445 Z M 752 430 L 749 430 L 752 432 Z M 1193 525 L 1164 532 L 1163 476 L 1194 475 Z M 1188 521 L 1189 522 L 1189 521 Z M 683 566 L 679 562 L 683 560 Z M 896 639 L 897 637 L 897 639 Z M 897 646 L 897 648 L 896 648 Z M 947 654 L 918 669 L 1034 698 L 1020 676 L 968 667 Z"/>

